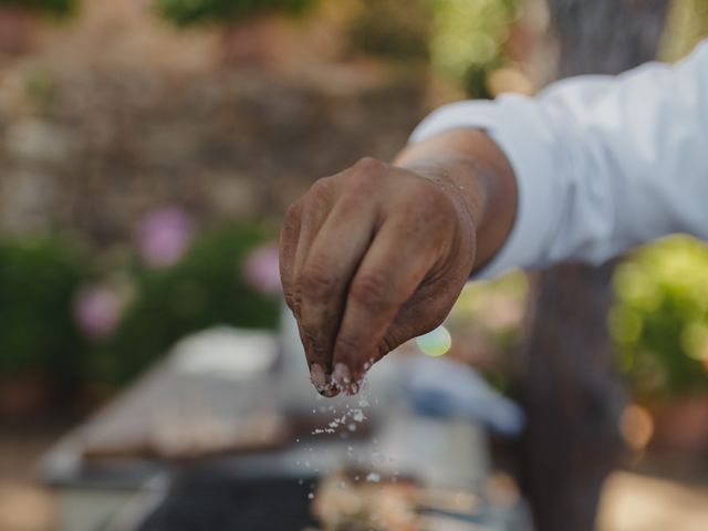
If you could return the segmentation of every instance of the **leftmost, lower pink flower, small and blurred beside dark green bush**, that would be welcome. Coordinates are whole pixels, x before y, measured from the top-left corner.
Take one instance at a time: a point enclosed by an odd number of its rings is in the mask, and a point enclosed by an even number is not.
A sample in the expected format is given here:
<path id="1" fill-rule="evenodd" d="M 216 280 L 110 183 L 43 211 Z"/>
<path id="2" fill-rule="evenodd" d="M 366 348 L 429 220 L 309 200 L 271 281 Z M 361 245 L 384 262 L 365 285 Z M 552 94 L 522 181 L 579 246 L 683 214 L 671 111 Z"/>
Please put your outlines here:
<path id="1" fill-rule="evenodd" d="M 91 340 L 103 340 L 115 330 L 123 301 L 118 293 L 100 284 L 82 288 L 74 299 L 74 320 L 83 334 Z"/>

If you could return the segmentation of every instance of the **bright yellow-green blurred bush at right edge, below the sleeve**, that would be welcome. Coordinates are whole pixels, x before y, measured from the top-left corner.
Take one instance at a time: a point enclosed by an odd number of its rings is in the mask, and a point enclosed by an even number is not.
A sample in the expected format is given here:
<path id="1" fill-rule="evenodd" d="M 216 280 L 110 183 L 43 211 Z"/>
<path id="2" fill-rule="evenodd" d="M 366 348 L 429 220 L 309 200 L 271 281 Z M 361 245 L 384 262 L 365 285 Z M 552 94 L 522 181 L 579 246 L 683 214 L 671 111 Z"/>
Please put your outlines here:
<path id="1" fill-rule="evenodd" d="M 708 391 L 708 247 L 674 237 L 616 271 L 610 331 L 620 366 L 646 399 Z"/>

